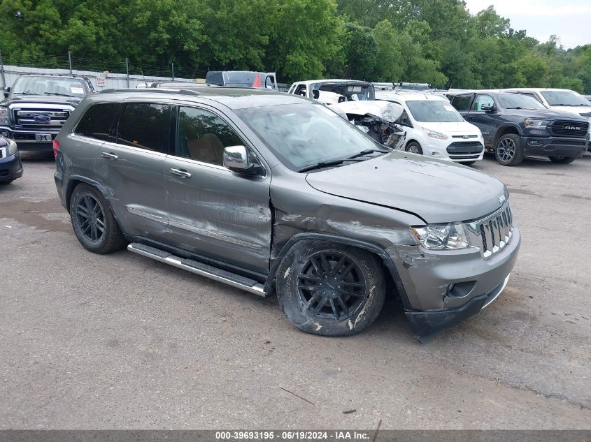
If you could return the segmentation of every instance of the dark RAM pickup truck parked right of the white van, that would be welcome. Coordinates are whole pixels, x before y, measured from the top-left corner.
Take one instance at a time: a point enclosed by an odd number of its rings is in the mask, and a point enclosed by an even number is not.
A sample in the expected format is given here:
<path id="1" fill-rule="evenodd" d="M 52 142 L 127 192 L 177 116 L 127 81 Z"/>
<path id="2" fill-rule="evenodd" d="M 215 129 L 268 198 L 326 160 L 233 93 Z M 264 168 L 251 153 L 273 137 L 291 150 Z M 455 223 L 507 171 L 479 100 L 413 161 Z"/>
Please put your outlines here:
<path id="1" fill-rule="evenodd" d="M 525 156 L 571 163 L 587 149 L 586 119 L 550 110 L 532 97 L 473 91 L 448 98 L 466 121 L 480 128 L 485 148 L 502 165 L 518 165 Z"/>

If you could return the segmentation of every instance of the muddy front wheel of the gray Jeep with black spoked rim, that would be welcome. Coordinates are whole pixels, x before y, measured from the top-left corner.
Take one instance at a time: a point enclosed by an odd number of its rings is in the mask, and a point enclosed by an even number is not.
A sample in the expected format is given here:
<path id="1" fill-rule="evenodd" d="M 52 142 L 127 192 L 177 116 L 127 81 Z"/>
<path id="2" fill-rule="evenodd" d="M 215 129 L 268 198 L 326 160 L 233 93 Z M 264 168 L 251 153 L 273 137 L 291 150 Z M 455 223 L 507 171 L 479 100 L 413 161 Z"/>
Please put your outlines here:
<path id="1" fill-rule="evenodd" d="M 276 277 L 281 309 L 306 333 L 357 334 L 376 320 L 384 304 L 385 279 L 376 257 L 343 244 L 298 242 Z"/>

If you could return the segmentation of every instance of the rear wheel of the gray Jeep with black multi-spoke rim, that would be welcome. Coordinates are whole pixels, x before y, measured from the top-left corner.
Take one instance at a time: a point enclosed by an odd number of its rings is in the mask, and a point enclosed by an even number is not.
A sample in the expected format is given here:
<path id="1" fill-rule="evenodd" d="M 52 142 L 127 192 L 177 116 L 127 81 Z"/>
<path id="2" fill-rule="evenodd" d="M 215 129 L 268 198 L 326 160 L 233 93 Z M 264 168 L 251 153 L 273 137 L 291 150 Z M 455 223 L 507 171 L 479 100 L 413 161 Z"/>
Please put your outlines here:
<path id="1" fill-rule="evenodd" d="M 85 249 L 109 253 L 126 242 L 103 194 L 88 184 L 78 184 L 70 201 L 74 233 Z"/>

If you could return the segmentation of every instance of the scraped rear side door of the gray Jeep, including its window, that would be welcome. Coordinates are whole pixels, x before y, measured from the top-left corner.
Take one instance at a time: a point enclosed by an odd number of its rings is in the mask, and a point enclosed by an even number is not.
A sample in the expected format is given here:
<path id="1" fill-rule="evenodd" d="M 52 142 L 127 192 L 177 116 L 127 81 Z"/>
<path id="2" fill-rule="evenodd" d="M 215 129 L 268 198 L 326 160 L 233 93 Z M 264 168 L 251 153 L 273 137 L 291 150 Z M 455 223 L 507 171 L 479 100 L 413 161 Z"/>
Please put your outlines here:
<path id="1" fill-rule="evenodd" d="M 124 102 L 94 164 L 95 179 L 105 186 L 122 231 L 159 242 L 169 234 L 164 160 L 172 108 L 169 103 Z"/>

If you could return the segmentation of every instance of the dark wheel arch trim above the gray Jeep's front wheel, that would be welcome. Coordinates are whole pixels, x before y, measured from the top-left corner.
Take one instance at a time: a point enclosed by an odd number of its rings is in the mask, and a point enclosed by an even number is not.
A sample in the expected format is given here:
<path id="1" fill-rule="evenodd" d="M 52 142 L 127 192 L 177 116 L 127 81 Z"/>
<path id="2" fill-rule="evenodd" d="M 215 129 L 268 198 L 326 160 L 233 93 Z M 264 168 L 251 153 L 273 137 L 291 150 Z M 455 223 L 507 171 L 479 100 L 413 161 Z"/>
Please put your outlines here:
<path id="1" fill-rule="evenodd" d="M 369 242 L 353 240 L 352 238 L 341 237 L 338 235 L 328 235 L 325 233 L 297 233 L 293 237 L 288 240 L 285 245 L 282 247 L 281 251 L 278 253 L 277 257 L 273 261 L 273 265 L 271 265 L 271 269 L 269 270 L 269 277 L 267 277 L 265 282 L 265 291 L 269 292 L 269 290 L 273 289 L 273 281 L 275 281 L 275 274 L 283 262 L 283 258 L 287 255 L 287 252 L 292 249 L 295 244 L 304 240 L 316 240 L 316 241 L 330 241 L 336 242 L 339 244 L 344 244 L 355 249 L 361 249 L 365 251 L 369 251 L 372 255 L 376 256 L 378 260 L 384 266 L 384 276 L 388 280 L 394 284 L 394 287 L 397 289 L 397 292 L 400 295 L 402 303 L 404 304 L 405 309 L 411 309 L 411 304 L 408 302 L 408 296 L 406 295 L 406 290 L 404 290 L 404 284 L 400 279 L 400 275 L 398 274 L 398 270 L 394 265 L 394 261 L 390 258 L 390 255 L 387 252 L 376 246 L 376 244 L 371 244 Z"/>

